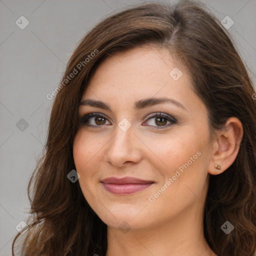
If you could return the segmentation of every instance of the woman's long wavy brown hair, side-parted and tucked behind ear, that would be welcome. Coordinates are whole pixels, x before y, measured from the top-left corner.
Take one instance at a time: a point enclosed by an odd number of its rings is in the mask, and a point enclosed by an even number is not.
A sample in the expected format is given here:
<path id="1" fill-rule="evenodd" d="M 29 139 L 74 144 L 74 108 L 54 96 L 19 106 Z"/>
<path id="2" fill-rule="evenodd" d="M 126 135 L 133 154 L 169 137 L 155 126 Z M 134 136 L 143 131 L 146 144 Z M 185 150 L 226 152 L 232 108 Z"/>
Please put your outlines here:
<path id="1" fill-rule="evenodd" d="M 19 236 L 22 255 L 105 255 L 106 224 L 86 202 L 79 183 L 67 178 L 75 169 L 72 144 L 78 103 L 92 73 L 111 52 L 150 43 L 168 49 L 189 71 L 193 89 L 207 107 L 212 132 L 231 116 L 243 125 L 235 161 L 221 174 L 210 175 L 203 225 L 217 255 L 252 256 L 256 250 L 255 90 L 230 38 L 207 7 L 191 0 L 132 6 L 92 28 L 70 57 L 56 90 L 45 151 L 27 188 L 29 228 L 15 236 L 12 255 Z M 75 73 L 72 78 L 71 73 Z M 234 226 L 229 234 L 220 228 L 225 221 Z"/>

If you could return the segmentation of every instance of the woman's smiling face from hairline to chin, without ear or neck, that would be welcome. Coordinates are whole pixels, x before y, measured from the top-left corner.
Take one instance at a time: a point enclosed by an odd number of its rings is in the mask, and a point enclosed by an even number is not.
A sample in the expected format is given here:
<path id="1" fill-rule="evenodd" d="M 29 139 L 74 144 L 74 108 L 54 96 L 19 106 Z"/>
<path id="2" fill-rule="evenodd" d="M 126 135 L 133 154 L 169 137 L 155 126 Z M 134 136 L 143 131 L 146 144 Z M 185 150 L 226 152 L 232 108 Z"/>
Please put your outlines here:
<path id="1" fill-rule="evenodd" d="M 186 70 L 167 54 L 137 47 L 111 55 L 82 95 L 87 103 L 79 106 L 73 157 L 85 199 L 108 226 L 202 219 L 211 152 L 207 111 Z"/>

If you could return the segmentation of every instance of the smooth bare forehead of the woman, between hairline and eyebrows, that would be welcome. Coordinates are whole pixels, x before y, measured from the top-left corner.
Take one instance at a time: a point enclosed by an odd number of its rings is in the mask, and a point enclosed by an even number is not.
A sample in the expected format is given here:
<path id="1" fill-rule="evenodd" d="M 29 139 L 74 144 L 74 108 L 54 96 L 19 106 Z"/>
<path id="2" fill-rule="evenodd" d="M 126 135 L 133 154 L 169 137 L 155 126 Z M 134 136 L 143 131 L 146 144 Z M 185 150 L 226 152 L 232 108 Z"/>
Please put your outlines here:
<path id="1" fill-rule="evenodd" d="M 174 76 L 173 76 L 174 75 Z M 177 66 L 166 49 L 136 47 L 109 55 L 91 76 L 83 97 L 91 91 L 102 94 L 180 93 L 190 84 L 186 70 Z M 166 86 L 167 85 L 167 86 Z"/>

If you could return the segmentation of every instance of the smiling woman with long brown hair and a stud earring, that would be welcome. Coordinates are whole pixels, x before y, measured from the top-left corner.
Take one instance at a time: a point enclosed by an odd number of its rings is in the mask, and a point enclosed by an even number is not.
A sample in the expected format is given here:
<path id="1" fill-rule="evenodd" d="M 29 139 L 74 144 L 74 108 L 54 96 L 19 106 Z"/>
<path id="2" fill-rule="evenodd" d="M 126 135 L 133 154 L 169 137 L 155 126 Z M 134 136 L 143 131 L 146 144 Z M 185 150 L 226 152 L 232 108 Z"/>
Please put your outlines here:
<path id="1" fill-rule="evenodd" d="M 254 255 L 254 93 L 201 3 L 101 21 L 51 93 L 20 253 Z"/>

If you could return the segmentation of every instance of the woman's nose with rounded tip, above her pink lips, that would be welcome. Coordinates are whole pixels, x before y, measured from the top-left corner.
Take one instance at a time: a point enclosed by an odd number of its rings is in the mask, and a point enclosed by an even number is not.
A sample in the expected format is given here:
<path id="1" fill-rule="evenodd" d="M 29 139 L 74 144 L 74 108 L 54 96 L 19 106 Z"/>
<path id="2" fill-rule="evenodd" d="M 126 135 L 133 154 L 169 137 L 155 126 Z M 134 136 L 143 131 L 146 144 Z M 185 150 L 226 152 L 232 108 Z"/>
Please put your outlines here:
<path id="1" fill-rule="evenodd" d="M 104 160 L 116 167 L 138 163 L 142 157 L 141 141 L 134 134 L 132 126 L 123 131 L 116 125 L 114 135 L 107 145 Z"/>

